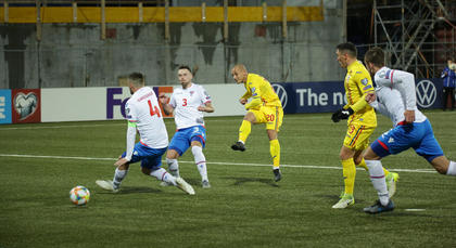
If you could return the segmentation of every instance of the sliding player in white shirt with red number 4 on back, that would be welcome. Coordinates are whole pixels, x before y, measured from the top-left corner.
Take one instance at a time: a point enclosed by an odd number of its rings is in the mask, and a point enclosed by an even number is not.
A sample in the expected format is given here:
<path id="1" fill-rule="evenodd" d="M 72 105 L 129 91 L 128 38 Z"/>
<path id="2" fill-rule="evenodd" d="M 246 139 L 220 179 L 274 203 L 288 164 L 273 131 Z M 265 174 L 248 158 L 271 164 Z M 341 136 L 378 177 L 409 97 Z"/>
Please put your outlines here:
<path id="1" fill-rule="evenodd" d="M 127 151 L 114 164 L 117 168 L 113 181 L 97 180 L 96 183 L 103 190 L 116 193 L 128 173 L 130 164 L 141 161 L 141 171 L 145 175 L 154 177 L 194 195 L 193 187 L 183 179 L 176 178 L 161 168 L 162 155 L 168 146 L 168 134 L 154 91 L 150 87 L 144 87 L 142 74 L 132 73 L 127 80 L 131 92 L 131 97 L 125 105 L 128 119 Z M 137 131 L 140 141 L 135 144 Z"/>

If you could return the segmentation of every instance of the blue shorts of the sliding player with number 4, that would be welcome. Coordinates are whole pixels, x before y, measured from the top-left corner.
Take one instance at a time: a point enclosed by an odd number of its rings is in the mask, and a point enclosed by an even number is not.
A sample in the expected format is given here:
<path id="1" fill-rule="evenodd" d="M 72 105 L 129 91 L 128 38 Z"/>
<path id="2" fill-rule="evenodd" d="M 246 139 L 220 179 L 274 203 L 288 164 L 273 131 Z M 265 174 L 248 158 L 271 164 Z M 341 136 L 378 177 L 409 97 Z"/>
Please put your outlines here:
<path id="1" fill-rule="evenodd" d="M 159 169 L 162 167 L 162 156 L 165 152 L 166 147 L 155 149 L 138 142 L 135 145 L 130 164 L 141 161 L 143 168 Z M 122 157 L 125 157 L 126 154 L 126 152 L 122 154 Z"/>

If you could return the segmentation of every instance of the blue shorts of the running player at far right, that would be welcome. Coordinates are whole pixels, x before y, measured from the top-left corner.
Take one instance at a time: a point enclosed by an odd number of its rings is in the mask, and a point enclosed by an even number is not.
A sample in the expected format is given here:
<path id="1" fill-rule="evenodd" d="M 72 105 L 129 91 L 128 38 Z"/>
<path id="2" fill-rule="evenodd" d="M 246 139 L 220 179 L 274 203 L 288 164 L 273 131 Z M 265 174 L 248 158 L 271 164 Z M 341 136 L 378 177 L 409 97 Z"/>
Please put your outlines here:
<path id="1" fill-rule="evenodd" d="M 398 154 L 410 147 L 429 162 L 443 156 L 442 147 L 434 138 L 429 120 L 420 123 L 396 126 L 370 145 L 370 148 L 380 157 Z"/>

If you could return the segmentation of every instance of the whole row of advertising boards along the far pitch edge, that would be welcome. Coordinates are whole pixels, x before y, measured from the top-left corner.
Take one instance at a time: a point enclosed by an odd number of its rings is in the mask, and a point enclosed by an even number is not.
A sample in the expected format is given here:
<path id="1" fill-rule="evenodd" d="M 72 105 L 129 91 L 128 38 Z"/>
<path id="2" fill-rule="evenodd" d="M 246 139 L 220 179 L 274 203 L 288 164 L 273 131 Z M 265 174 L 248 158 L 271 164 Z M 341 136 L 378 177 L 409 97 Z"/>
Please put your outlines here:
<path id="1" fill-rule="evenodd" d="M 331 113 L 346 103 L 342 81 L 271 83 L 286 114 Z M 180 86 L 176 86 L 180 87 Z M 172 94 L 174 87 L 153 87 L 156 94 Z M 215 113 L 206 116 L 244 115 L 238 103 L 240 84 L 205 84 Z M 419 108 L 442 106 L 442 80 L 417 79 Z M 0 123 L 110 120 L 125 118 L 128 88 L 54 88 L 0 90 Z"/>

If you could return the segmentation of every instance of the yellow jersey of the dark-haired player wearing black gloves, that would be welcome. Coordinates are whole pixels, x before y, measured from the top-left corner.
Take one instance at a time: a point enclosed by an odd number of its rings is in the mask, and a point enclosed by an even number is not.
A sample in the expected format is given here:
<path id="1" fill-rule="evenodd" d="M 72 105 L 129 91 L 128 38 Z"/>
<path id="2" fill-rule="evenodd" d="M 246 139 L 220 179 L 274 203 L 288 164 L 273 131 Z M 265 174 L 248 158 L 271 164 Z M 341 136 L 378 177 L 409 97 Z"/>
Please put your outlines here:
<path id="1" fill-rule="evenodd" d="M 377 116 L 373 108 L 365 101 L 367 92 L 375 91 L 372 79 L 363 63 L 356 61 L 347 66 L 344 80 L 347 104 L 355 113 L 349 118 L 347 123 L 359 123 L 366 127 L 377 127 Z"/>

